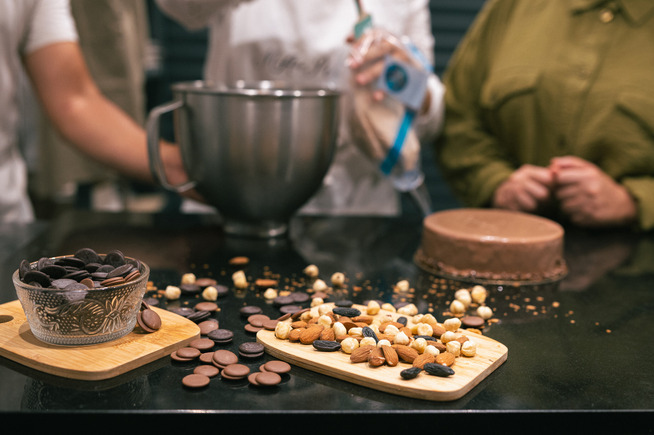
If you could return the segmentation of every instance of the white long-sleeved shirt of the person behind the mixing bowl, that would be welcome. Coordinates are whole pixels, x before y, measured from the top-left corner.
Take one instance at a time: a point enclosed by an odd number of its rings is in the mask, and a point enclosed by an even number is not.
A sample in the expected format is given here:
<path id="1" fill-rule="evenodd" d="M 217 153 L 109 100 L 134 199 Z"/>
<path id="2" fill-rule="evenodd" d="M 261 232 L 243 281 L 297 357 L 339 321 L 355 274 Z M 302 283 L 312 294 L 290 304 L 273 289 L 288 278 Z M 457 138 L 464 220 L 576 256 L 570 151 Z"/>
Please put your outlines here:
<path id="1" fill-rule="evenodd" d="M 347 92 L 350 72 L 345 42 L 358 19 L 354 0 L 157 0 L 161 9 L 189 29 L 209 26 L 205 79 L 284 80 L 294 86 L 328 86 Z M 432 60 L 428 0 L 368 0 L 375 26 L 407 35 Z M 414 124 L 423 143 L 432 141 L 443 120 L 444 88 L 429 81 L 430 111 Z M 341 111 L 347 116 L 347 111 Z M 322 188 L 300 213 L 397 215 L 398 194 L 349 139 L 341 122 L 339 148 Z"/>

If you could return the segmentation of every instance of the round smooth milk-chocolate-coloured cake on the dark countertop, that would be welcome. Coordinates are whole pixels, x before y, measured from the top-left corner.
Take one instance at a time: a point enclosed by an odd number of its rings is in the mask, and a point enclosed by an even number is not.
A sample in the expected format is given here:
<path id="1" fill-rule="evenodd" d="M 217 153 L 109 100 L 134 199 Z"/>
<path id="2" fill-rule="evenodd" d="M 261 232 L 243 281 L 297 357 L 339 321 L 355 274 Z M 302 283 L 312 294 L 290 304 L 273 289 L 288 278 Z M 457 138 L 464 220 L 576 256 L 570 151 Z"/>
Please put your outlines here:
<path id="1" fill-rule="evenodd" d="M 563 228 L 518 211 L 454 209 L 424 219 L 419 266 L 454 277 L 544 281 L 563 277 Z"/>

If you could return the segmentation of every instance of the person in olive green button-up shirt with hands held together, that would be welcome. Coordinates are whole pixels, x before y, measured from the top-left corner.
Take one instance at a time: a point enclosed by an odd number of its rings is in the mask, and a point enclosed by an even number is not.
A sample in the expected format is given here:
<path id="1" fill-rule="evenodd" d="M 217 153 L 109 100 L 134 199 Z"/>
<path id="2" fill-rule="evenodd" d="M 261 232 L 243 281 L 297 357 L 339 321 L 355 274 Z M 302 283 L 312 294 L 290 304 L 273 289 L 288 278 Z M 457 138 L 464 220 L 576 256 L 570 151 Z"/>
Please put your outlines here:
<path id="1" fill-rule="evenodd" d="M 651 0 L 489 0 L 443 80 L 456 194 L 654 228 L 653 17 Z"/>

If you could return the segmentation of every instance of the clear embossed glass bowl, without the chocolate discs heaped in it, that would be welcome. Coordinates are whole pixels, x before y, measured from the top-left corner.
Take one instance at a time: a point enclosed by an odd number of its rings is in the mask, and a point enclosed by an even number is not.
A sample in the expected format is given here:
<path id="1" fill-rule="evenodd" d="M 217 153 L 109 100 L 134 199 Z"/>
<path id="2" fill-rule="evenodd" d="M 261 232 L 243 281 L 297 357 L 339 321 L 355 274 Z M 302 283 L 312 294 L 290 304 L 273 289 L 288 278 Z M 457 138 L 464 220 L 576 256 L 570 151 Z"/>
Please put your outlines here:
<path id="1" fill-rule="evenodd" d="M 104 258 L 105 254 L 100 257 Z M 37 262 L 30 266 L 35 270 Z M 141 277 L 129 283 L 88 290 L 34 287 L 20 281 L 18 270 L 12 279 L 29 328 L 36 338 L 49 344 L 84 346 L 106 343 L 133 330 L 150 276 L 150 268 L 143 262 L 139 271 Z"/>

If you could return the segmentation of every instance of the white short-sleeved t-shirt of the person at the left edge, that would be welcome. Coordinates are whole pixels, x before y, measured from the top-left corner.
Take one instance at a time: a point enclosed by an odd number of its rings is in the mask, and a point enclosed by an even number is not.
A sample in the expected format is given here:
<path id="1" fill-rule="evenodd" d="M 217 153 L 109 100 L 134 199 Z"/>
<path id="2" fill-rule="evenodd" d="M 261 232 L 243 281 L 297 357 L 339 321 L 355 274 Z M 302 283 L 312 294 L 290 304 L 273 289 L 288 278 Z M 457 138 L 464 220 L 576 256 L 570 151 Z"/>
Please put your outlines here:
<path id="1" fill-rule="evenodd" d="M 34 218 L 16 144 L 21 58 L 62 41 L 77 41 L 68 0 L 0 0 L 0 223 Z"/>

